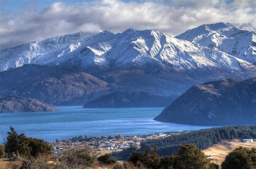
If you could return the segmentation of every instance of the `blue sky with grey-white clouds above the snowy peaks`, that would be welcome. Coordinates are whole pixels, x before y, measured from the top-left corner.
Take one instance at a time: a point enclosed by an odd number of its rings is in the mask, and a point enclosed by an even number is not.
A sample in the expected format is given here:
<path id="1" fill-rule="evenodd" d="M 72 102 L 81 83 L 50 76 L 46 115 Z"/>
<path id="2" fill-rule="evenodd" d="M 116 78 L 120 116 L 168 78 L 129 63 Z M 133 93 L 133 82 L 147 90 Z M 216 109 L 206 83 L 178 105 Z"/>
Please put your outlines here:
<path id="1" fill-rule="evenodd" d="M 79 31 L 173 36 L 202 24 L 256 24 L 255 0 L 0 0 L 0 50 Z"/>

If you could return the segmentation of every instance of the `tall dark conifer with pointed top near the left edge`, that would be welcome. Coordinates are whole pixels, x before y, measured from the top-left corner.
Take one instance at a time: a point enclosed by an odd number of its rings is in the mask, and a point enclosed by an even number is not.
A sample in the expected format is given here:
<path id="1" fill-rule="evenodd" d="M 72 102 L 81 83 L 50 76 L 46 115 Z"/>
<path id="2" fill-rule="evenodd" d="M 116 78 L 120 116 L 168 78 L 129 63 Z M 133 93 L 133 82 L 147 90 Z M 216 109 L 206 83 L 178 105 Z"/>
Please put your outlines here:
<path id="1" fill-rule="evenodd" d="M 10 126 L 10 132 L 8 132 L 8 136 L 6 137 L 7 143 L 5 145 L 5 152 L 17 152 L 18 150 L 18 133 L 15 129 Z"/>

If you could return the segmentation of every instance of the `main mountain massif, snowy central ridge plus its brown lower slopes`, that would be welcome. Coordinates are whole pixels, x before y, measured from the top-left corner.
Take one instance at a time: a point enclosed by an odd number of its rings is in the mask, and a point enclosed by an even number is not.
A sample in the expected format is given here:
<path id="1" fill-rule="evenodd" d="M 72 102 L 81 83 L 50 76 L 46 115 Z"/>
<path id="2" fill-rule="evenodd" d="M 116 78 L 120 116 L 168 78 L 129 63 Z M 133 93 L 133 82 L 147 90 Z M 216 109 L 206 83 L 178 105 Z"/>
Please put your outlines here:
<path id="1" fill-rule="evenodd" d="M 248 57 L 254 57 L 253 50 Z M 253 59 L 243 59 L 152 30 L 79 32 L 0 51 L 0 96 L 83 105 L 119 91 L 176 96 L 207 81 L 255 77 Z"/>

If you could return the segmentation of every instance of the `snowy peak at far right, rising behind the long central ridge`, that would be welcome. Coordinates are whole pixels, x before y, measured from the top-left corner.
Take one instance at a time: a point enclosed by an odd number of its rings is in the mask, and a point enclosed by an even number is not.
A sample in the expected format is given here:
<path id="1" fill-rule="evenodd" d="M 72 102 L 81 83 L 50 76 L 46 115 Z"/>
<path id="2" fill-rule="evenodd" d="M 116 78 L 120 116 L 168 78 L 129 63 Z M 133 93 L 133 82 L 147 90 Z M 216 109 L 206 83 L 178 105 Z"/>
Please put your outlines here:
<path id="1" fill-rule="evenodd" d="M 204 24 L 176 38 L 217 49 L 256 64 L 256 28 L 251 24 Z"/>

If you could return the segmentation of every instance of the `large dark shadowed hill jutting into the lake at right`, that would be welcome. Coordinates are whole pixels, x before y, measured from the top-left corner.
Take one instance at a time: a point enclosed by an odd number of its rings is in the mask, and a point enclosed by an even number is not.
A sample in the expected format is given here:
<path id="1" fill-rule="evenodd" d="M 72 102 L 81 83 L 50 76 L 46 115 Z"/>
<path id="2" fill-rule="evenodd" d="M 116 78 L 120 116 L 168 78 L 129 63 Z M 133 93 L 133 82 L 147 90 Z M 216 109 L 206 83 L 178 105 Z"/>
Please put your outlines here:
<path id="1" fill-rule="evenodd" d="M 154 119 L 194 125 L 256 124 L 256 78 L 193 86 Z"/>

